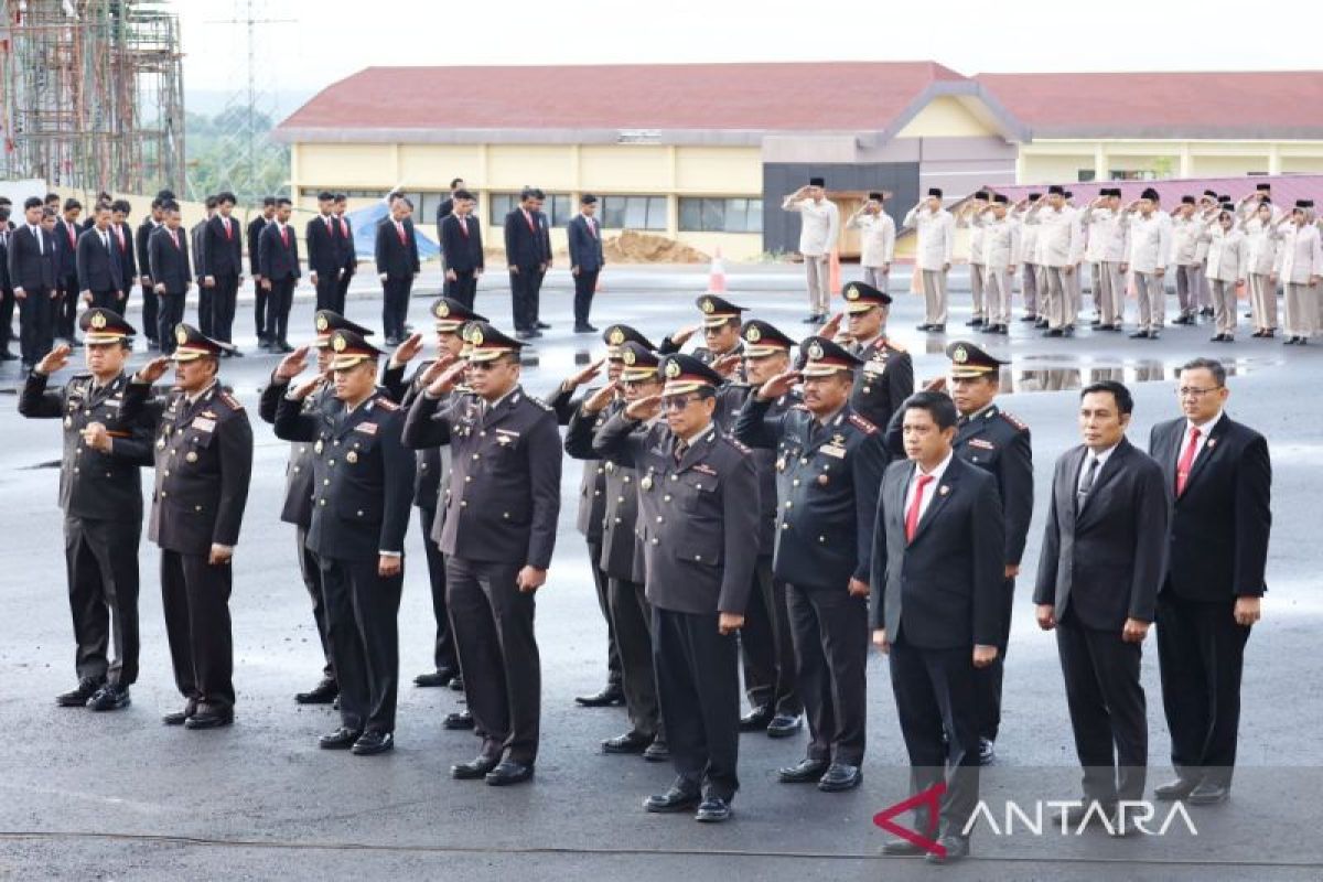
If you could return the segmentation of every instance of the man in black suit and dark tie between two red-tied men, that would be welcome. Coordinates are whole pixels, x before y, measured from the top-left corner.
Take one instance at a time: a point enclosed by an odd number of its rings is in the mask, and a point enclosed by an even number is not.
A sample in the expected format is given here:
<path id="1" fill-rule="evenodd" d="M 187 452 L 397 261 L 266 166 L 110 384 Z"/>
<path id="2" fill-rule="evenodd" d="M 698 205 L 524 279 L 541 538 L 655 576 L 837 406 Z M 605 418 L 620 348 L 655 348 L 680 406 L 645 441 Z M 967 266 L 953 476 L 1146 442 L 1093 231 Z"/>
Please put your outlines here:
<path id="1" fill-rule="evenodd" d="M 1084 804 L 1070 820 L 1106 820 L 1125 836 L 1118 803 L 1143 799 L 1148 763 L 1139 662 L 1166 566 L 1167 492 L 1162 467 L 1126 439 L 1130 390 L 1102 381 L 1080 401 L 1084 444 L 1052 476 L 1033 602 L 1039 627 L 1057 632 L 1084 766 Z"/>

